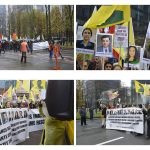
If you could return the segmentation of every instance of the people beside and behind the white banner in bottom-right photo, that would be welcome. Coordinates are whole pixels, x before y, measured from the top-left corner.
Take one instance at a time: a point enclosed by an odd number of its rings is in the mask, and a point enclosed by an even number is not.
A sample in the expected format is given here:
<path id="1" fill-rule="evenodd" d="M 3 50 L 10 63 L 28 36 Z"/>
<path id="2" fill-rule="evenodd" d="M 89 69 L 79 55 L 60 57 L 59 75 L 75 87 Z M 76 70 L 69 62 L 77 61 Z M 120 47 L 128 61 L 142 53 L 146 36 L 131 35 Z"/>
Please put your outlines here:
<path id="1" fill-rule="evenodd" d="M 126 105 L 126 104 L 119 104 L 117 103 L 116 105 L 107 105 L 99 102 L 99 107 L 96 108 L 99 109 L 100 113 L 100 120 L 101 120 L 101 128 L 106 128 L 106 118 L 107 118 L 107 109 L 116 109 L 116 108 L 140 108 L 143 112 L 143 127 L 144 127 L 144 133 L 139 134 L 139 133 L 134 133 L 135 136 L 139 135 L 145 135 L 146 139 L 150 139 L 150 103 L 148 103 L 145 107 L 145 105 L 139 104 L 139 105 Z M 86 108 L 85 106 L 81 106 L 79 110 L 79 114 L 81 117 L 81 126 L 87 125 L 86 119 L 87 119 L 87 112 L 89 111 L 90 115 L 90 120 L 93 120 L 94 117 L 94 107 Z M 146 125 L 147 124 L 147 125 Z M 147 127 L 147 128 L 146 128 Z M 146 130 L 145 130 L 146 128 Z M 145 132 L 146 131 L 146 132 Z M 133 132 L 131 132 L 133 133 Z"/>

